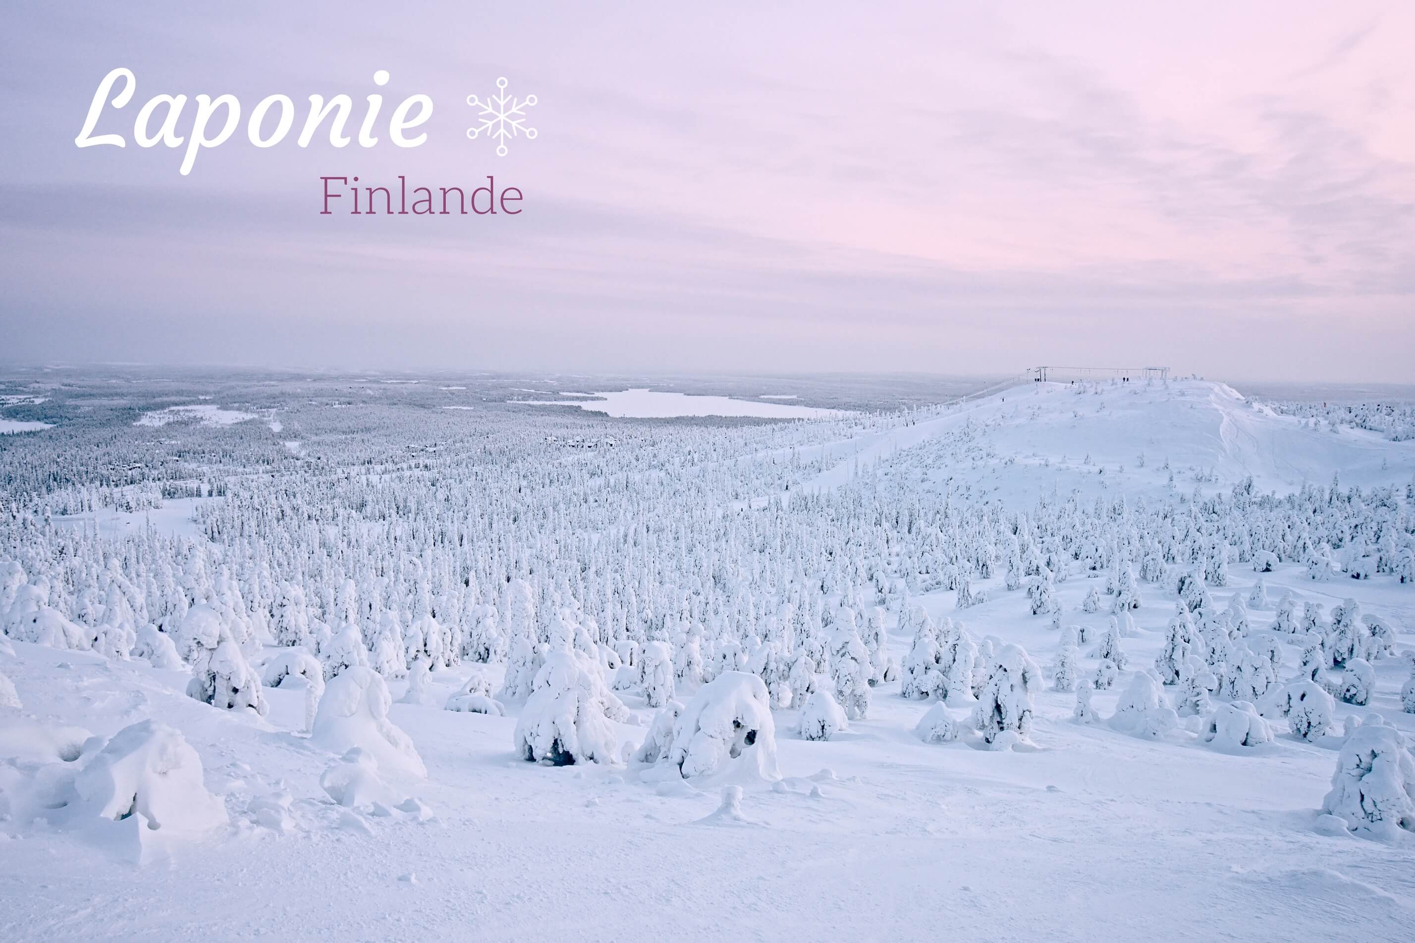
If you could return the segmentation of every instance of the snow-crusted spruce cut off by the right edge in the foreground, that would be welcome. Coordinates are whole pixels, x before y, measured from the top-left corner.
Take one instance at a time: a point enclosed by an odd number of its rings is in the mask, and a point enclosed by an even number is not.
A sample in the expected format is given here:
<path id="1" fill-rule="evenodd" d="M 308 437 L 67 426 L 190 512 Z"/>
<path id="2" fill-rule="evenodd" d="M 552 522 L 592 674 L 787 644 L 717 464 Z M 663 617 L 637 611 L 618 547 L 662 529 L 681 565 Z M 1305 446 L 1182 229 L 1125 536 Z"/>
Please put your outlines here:
<path id="1" fill-rule="evenodd" d="M 1363 724 L 1346 738 L 1322 811 L 1381 838 L 1415 831 L 1415 759 L 1399 731 Z"/>

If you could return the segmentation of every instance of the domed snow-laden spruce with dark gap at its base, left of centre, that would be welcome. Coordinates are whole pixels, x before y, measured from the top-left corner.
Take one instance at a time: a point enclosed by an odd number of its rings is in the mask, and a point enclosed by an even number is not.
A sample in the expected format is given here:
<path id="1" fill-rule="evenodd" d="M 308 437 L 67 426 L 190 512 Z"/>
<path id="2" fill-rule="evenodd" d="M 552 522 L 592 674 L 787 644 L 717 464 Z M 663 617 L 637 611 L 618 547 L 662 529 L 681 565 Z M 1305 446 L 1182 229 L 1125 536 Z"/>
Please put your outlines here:
<path id="1" fill-rule="evenodd" d="M 552 766 L 618 762 L 613 722 L 627 721 L 628 709 L 580 658 L 552 651 L 536 673 L 514 733 L 522 759 Z"/>

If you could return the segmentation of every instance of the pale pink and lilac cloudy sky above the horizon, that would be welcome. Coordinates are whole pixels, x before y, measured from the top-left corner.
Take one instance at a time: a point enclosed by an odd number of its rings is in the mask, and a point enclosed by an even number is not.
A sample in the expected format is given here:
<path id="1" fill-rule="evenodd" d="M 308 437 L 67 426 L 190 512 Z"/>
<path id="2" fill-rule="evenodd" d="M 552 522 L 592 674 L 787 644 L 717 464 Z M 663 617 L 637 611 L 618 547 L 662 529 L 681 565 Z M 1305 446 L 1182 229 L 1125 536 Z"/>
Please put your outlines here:
<path id="1" fill-rule="evenodd" d="M 11 4 L 8 357 L 1415 381 L 1415 8 Z M 436 102 L 415 150 L 74 147 L 158 92 Z M 535 142 L 464 98 L 535 92 Z M 385 108 L 391 108 L 385 106 Z M 303 120 L 303 113 L 300 120 Z M 318 217 L 321 174 L 525 193 Z"/>

